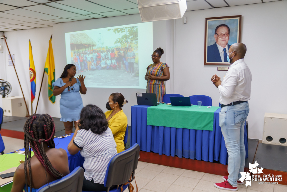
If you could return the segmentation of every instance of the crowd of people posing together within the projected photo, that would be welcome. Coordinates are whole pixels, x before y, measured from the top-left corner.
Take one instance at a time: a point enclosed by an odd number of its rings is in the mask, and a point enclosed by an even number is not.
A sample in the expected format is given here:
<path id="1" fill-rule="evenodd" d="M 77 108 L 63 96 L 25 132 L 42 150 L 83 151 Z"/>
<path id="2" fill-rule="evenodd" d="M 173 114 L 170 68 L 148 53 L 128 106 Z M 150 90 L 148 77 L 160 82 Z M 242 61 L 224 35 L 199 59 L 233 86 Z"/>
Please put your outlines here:
<path id="1" fill-rule="evenodd" d="M 110 49 L 93 49 L 73 53 L 72 64 L 77 71 L 84 73 L 95 70 L 125 70 L 134 75 L 136 54 L 130 44 L 127 47 L 113 47 Z M 74 62 L 74 63 L 73 63 Z"/>

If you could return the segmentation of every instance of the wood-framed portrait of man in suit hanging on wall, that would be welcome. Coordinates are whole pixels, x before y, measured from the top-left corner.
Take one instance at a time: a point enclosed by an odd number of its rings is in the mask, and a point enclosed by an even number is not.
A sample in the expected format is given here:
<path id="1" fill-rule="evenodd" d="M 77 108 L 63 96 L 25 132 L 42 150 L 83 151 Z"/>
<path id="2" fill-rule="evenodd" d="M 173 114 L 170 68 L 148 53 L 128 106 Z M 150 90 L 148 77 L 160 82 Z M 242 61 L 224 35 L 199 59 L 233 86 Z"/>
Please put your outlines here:
<path id="1" fill-rule="evenodd" d="M 230 65 L 229 47 L 240 43 L 241 15 L 205 18 L 204 64 Z"/>

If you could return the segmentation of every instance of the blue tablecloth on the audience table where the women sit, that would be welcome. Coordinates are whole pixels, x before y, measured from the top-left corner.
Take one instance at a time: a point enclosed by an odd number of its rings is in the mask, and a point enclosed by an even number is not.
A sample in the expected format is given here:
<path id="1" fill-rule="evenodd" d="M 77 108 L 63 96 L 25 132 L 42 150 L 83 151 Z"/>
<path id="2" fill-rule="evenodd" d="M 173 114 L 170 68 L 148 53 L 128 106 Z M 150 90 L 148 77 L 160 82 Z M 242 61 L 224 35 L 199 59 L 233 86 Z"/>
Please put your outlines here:
<path id="1" fill-rule="evenodd" d="M 81 156 L 80 151 L 76 154 L 76 155 L 71 155 L 68 152 L 68 145 L 72 139 L 72 136 L 74 135 L 74 133 L 72 133 L 71 136 L 65 137 L 65 138 L 54 138 L 54 142 L 55 142 L 55 148 L 56 149 L 65 149 L 67 154 L 68 154 L 68 161 L 69 161 L 69 170 L 70 172 L 72 172 L 76 167 L 81 166 L 83 167 L 85 158 Z M 21 151 L 25 151 L 25 149 L 19 149 Z"/>

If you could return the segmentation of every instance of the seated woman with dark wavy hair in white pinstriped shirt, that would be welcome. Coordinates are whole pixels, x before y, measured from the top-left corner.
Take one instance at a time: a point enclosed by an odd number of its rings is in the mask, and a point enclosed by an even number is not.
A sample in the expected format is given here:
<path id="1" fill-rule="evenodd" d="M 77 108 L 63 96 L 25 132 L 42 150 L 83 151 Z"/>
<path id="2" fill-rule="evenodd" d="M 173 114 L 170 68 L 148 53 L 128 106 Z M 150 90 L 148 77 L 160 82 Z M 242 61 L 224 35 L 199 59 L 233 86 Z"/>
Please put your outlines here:
<path id="1" fill-rule="evenodd" d="M 75 155 L 80 151 L 85 158 L 83 191 L 106 191 L 105 174 L 109 161 L 117 154 L 113 133 L 103 111 L 89 104 L 80 113 L 78 128 L 68 145 Z"/>

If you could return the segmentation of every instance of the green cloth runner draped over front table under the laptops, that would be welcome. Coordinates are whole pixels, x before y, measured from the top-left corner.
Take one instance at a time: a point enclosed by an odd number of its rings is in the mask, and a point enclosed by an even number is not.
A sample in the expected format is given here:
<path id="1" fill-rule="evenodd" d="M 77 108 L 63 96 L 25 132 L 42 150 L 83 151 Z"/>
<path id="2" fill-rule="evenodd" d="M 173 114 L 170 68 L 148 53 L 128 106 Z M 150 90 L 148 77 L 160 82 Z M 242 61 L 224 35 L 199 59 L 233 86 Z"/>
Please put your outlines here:
<path id="1" fill-rule="evenodd" d="M 212 131 L 213 115 L 218 108 L 159 104 L 147 108 L 147 125 Z"/>

